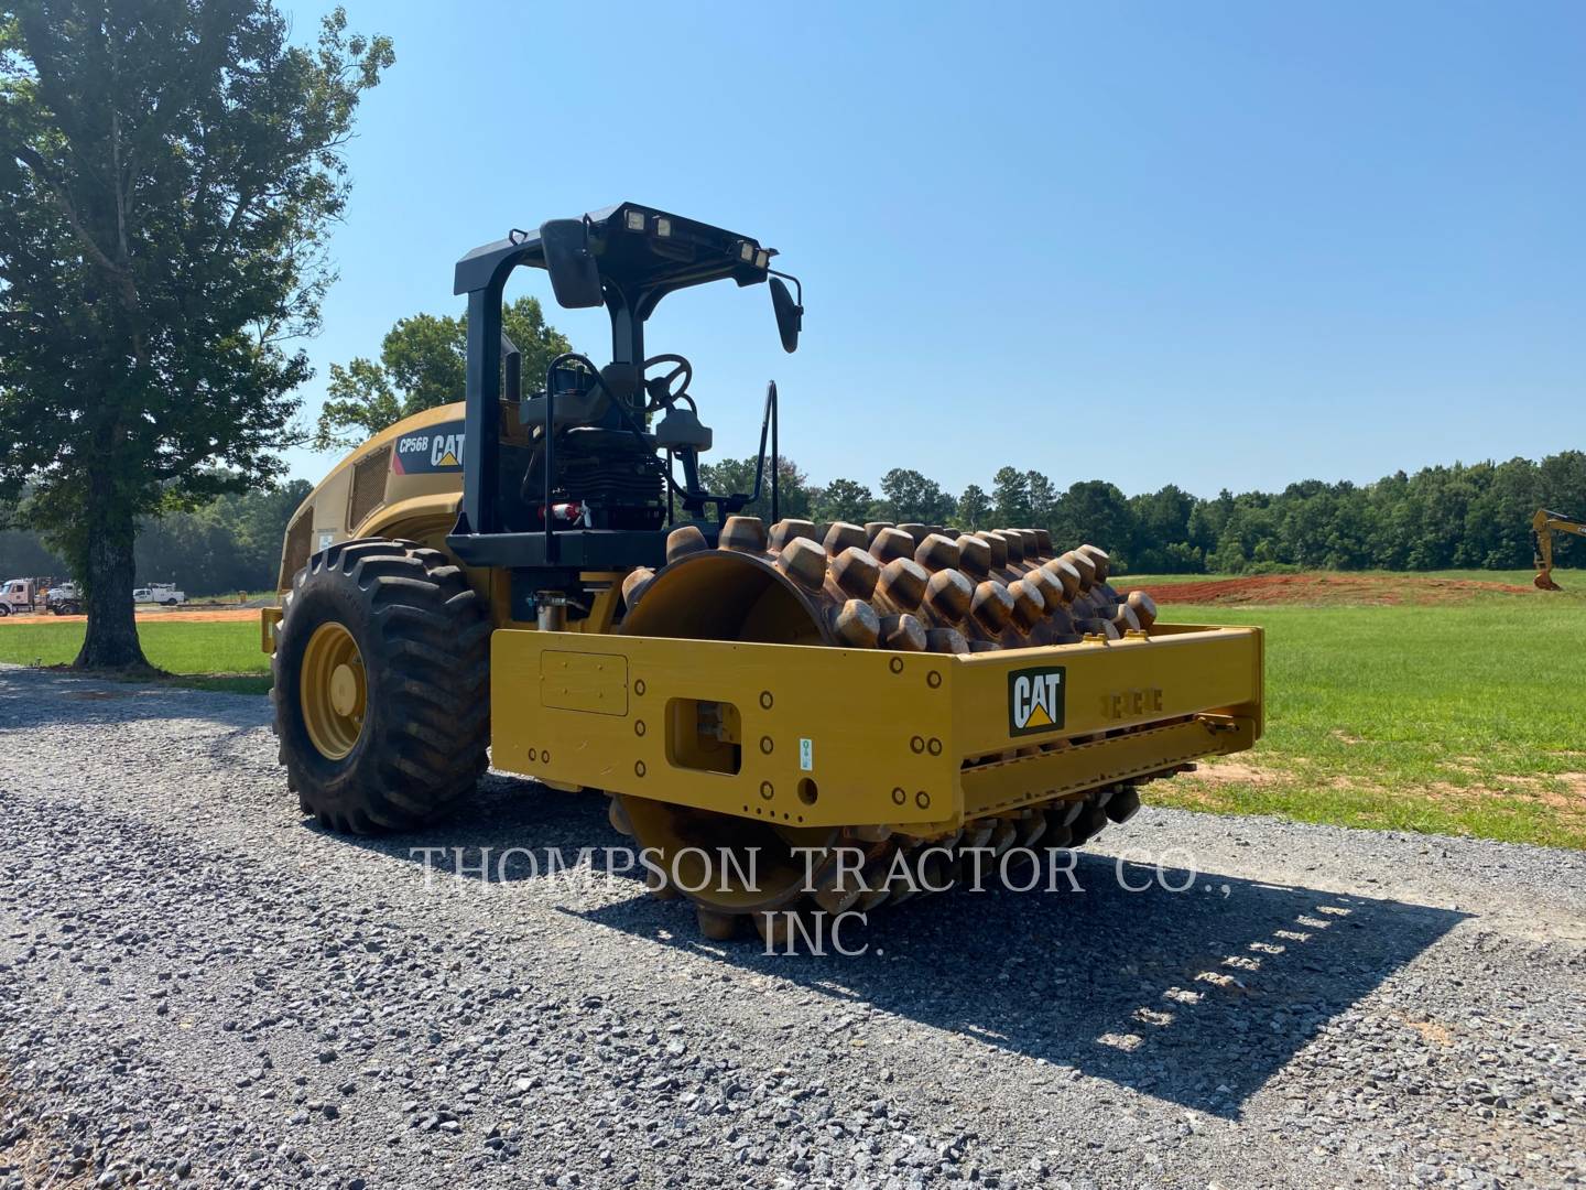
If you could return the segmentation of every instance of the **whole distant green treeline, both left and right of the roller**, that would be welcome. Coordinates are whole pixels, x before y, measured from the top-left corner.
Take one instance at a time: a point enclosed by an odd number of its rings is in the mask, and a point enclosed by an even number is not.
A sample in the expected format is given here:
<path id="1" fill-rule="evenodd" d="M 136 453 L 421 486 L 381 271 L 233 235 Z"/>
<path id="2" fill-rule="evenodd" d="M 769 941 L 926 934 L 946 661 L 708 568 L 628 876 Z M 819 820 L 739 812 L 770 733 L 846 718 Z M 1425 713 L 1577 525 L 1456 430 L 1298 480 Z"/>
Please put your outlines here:
<path id="1" fill-rule="evenodd" d="M 752 459 L 728 459 L 706 466 L 704 478 L 717 492 L 749 492 L 753 470 Z M 769 517 L 769 489 L 766 476 L 747 511 Z M 271 589 L 287 519 L 308 492 L 295 479 L 144 522 L 138 582 L 176 582 L 189 595 Z M 871 490 L 853 479 L 815 484 L 783 459 L 779 497 L 782 516 L 810 520 L 1047 528 L 1064 546 L 1102 546 L 1137 574 L 1521 570 L 1532 559 L 1532 512 L 1586 514 L 1586 452 L 1429 466 L 1364 486 L 1307 479 L 1281 492 L 1223 490 L 1212 500 L 1174 484 L 1128 497 L 1104 479 L 1058 490 L 1045 474 L 1012 466 L 993 476 L 990 490 L 971 484 L 956 497 L 909 468 L 893 468 Z M 1586 541 L 1561 535 L 1554 557 L 1586 565 Z M 0 532 L 0 579 L 35 574 L 65 578 L 67 566 L 35 533 Z"/>

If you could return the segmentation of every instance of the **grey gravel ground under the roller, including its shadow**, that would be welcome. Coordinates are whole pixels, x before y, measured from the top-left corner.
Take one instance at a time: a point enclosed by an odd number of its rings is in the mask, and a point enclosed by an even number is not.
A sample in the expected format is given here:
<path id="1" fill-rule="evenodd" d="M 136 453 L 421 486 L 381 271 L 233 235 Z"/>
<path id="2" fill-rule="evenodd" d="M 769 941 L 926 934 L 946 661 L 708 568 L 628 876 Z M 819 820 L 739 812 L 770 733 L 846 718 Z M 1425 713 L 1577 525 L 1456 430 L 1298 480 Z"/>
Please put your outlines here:
<path id="1" fill-rule="evenodd" d="M 547 873 L 598 798 L 327 835 L 266 716 L 0 668 L 0 1187 L 1586 1180 L 1586 855 L 1145 809 L 766 955 Z"/>

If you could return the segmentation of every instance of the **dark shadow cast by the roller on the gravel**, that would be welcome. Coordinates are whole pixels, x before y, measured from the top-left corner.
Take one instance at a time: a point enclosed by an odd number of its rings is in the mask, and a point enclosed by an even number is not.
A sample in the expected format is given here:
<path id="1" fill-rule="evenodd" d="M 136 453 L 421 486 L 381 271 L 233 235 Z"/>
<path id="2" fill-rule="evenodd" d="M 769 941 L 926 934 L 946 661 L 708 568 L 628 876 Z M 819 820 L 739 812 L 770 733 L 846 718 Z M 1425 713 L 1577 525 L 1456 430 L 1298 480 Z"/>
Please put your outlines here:
<path id="1" fill-rule="evenodd" d="M 508 882 L 544 879 L 547 849 L 571 863 L 580 847 L 628 844 L 606 822 L 604 798 L 500 776 L 441 828 L 346 843 L 416 865 L 412 849 L 442 849 L 430 855 L 438 877 L 488 871 Z M 511 847 L 539 858 L 503 863 Z M 852 955 L 829 936 L 826 954 L 791 955 L 764 954 L 753 935 L 706 941 L 687 903 L 646 895 L 638 874 L 633 896 L 565 912 L 790 981 L 828 998 L 834 1017 L 869 1004 L 1053 1063 L 1032 1095 L 1056 1093 L 1078 1071 L 1229 1119 L 1329 1019 L 1467 917 L 1085 852 L 1074 874 L 1078 892 L 1059 876 L 1061 892 L 988 887 L 879 909 L 844 925 L 844 947 L 863 950 Z"/>

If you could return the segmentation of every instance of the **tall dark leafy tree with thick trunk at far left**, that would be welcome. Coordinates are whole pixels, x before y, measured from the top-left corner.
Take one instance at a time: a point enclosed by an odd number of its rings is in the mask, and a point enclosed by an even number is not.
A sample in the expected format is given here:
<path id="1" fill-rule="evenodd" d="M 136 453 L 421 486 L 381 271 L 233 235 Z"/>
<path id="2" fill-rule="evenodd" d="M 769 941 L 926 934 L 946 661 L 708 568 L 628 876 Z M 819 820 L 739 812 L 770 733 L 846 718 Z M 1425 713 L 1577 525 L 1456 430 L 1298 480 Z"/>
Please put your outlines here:
<path id="1" fill-rule="evenodd" d="M 0 487 L 33 484 L 87 587 L 79 666 L 146 665 L 140 517 L 281 470 L 341 149 L 393 60 L 341 10 L 287 33 L 268 0 L 0 10 Z"/>

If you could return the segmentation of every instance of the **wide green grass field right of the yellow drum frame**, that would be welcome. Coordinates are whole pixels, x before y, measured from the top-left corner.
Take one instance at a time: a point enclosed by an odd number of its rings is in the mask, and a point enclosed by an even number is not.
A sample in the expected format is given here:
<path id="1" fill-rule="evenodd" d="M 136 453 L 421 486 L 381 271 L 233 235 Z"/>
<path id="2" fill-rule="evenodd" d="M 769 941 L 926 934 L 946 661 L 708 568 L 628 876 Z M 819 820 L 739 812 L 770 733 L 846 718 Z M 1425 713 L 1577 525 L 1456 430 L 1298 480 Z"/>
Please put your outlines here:
<path id="1" fill-rule="evenodd" d="M 1163 614 L 1267 630 L 1267 733 L 1153 800 L 1586 847 L 1586 597 Z"/>

